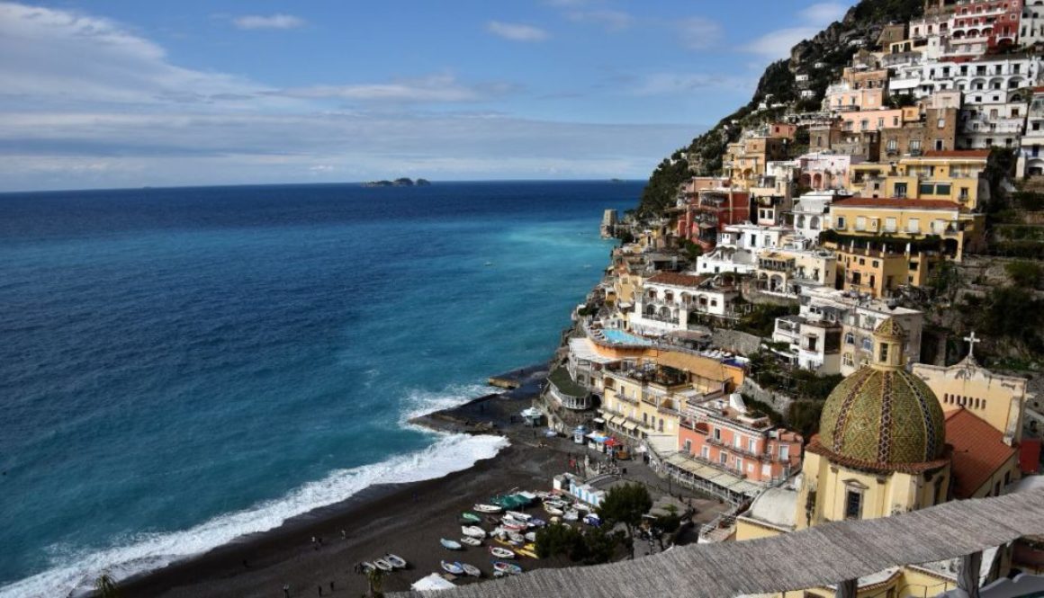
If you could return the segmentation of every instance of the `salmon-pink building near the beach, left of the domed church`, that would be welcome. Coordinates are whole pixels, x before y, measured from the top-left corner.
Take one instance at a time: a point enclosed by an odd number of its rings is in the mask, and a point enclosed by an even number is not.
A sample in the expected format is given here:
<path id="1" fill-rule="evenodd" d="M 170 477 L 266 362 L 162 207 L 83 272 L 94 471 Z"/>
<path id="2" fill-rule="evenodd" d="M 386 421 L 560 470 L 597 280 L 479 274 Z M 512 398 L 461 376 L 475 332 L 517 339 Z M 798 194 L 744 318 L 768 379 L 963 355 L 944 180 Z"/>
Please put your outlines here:
<path id="1" fill-rule="evenodd" d="M 804 438 L 773 426 L 766 415 L 728 401 L 688 403 L 679 428 L 679 450 L 696 462 L 755 483 L 768 484 L 801 470 Z"/>

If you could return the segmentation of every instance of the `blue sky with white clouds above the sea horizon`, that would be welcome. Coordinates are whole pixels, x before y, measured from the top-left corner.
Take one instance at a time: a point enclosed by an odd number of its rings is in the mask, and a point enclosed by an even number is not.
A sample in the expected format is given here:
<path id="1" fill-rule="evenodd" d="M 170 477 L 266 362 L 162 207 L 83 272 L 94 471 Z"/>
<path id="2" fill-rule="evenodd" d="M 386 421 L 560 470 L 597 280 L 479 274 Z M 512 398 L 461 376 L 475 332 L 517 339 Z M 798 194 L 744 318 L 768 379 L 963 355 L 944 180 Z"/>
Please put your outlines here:
<path id="1" fill-rule="evenodd" d="M 0 191 L 646 178 L 854 0 L 0 0 Z"/>

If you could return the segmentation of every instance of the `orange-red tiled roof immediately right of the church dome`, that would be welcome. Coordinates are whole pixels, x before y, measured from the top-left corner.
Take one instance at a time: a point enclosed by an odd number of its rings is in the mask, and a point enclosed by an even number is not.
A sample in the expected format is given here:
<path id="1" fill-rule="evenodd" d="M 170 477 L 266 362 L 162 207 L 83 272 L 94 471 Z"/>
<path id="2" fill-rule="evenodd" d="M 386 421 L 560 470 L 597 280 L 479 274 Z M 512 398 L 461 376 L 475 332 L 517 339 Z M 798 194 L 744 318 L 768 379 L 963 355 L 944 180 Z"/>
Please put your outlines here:
<path id="1" fill-rule="evenodd" d="M 953 447 L 953 496 L 971 498 L 993 474 L 1015 455 L 1000 430 L 960 407 L 946 413 L 946 440 Z"/>

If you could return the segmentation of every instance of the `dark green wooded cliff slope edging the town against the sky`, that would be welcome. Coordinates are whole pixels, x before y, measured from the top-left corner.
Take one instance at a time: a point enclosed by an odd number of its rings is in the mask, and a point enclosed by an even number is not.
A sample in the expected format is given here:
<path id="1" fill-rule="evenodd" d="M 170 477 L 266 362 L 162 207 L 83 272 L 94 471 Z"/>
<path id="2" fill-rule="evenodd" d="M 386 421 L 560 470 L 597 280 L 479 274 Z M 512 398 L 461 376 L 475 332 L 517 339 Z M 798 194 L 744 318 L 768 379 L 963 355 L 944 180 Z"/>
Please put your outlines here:
<path id="1" fill-rule="evenodd" d="M 787 112 L 820 110 L 827 87 L 840 77 L 860 48 L 873 48 L 888 22 L 909 21 L 923 9 L 923 0 L 862 0 L 840 21 L 796 45 L 789 59 L 768 65 L 746 105 L 657 166 L 642 192 L 639 215 L 652 217 L 663 213 L 674 204 L 678 187 L 693 174 L 719 174 L 726 146 L 739 139 L 743 128 L 778 119 Z M 808 74 L 808 82 L 799 88 L 796 73 Z M 813 91 L 814 96 L 801 99 L 805 89 Z M 759 110 L 759 106 L 765 107 Z"/>

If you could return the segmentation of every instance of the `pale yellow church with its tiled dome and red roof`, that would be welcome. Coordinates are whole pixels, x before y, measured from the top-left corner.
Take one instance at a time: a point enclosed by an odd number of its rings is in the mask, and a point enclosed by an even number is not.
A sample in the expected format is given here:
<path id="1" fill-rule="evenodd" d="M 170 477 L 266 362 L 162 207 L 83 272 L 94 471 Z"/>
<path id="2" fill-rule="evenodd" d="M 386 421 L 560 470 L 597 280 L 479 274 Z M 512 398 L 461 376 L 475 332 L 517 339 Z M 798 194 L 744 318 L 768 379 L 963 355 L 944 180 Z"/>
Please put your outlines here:
<path id="1" fill-rule="evenodd" d="M 877 328 L 873 362 L 843 380 L 824 405 L 798 487 L 758 497 L 737 519 L 737 540 L 993 496 L 1013 472 L 1017 476 L 1016 451 L 999 432 L 967 409 L 944 412 L 924 380 L 905 370 L 904 341 L 894 319 Z M 1004 568 L 1004 558 L 997 563 Z M 860 578 L 855 595 L 935 596 L 955 587 L 945 564 L 907 565 Z M 811 588 L 777 596 L 828 598 L 835 592 Z"/>

